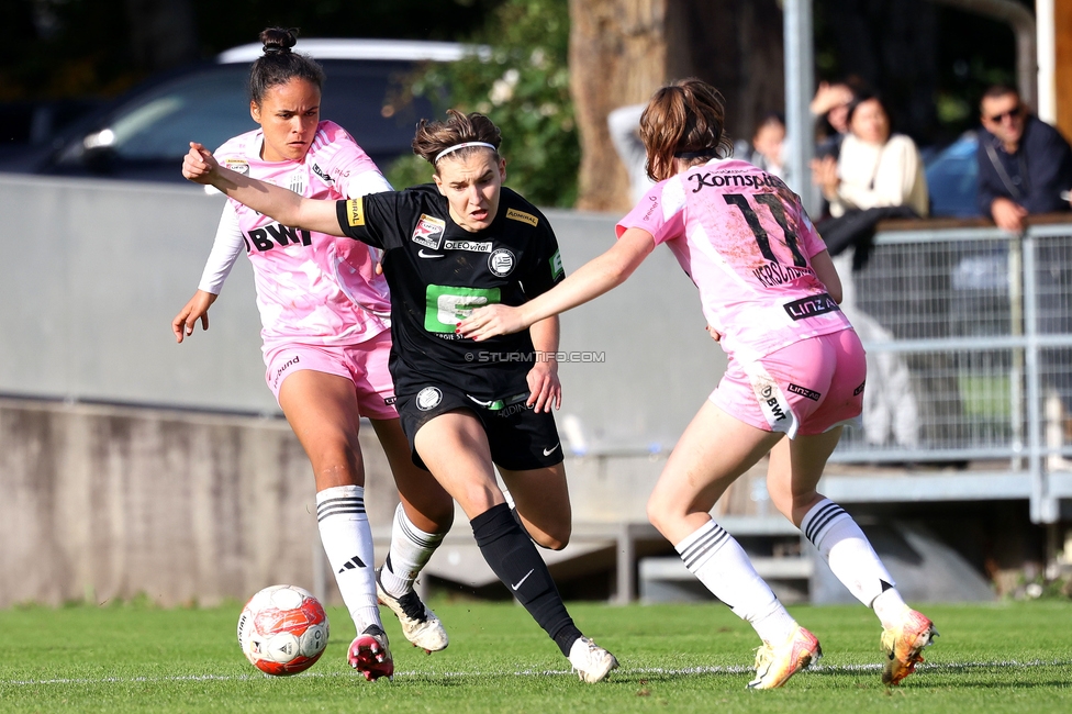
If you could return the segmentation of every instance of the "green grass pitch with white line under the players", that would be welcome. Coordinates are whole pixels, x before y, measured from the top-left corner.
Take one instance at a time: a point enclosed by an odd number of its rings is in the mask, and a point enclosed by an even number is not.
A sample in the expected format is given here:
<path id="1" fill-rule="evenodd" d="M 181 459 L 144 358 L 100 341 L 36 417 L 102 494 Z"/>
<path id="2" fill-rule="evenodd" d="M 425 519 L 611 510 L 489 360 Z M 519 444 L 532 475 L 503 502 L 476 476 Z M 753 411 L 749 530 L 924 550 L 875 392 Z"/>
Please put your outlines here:
<path id="1" fill-rule="evenodd" d="M 345 662 L 353 637 L 332 609 L 327 651 L 308 672 L 260 674 L 241 655 L 241 606 L 137 604 L 0 611 L 0 712 L 1072 712 L 1072 603 L 924 607 L 941 636 L 892 690 L 864 607 L 793 607 L 825 657 L 784 689 L 751 692 L 751 628 L 726 607 L 573 603 L 578 625 L 622 668 L 600 684 L 569 673 L 513 604 L 434 602 L 450 647 L 425 655 L 386 609 L 394 681 Z"/>

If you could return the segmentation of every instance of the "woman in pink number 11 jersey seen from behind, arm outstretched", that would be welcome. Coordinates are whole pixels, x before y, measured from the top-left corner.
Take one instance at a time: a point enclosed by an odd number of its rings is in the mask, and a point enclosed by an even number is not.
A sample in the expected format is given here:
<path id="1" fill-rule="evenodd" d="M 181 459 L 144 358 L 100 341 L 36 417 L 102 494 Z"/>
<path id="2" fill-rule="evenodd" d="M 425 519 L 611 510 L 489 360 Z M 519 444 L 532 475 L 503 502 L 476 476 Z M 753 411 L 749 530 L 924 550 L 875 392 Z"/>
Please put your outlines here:
<path id="1" fill-rule="evenodd" d="M 722 96 L 697 79 L 658 90 L 640 120 L 658 183 L 618 223 L 617 243 L 552 290 L 516 308 L 482 308 L 460 328 L 477 339 L 522 330 L 621 285 L 666 243 L 699 288 L 729 366 L 670 455 L 648 517 L 763 640 L 749 687 L 784 684 L 820 656 L 818 640 L 710 515 L 770 453 L 771 500 L 874 610 L 887 655 L 883 681 L 896 684 L 937 633 L 904 603 L 852 517 L 816 491 L 842 425 L 861 411 L 863 347 L 838 309 L 840 281 L 800 199 L 777 177 L 725 158 L 724 118 Z"/>

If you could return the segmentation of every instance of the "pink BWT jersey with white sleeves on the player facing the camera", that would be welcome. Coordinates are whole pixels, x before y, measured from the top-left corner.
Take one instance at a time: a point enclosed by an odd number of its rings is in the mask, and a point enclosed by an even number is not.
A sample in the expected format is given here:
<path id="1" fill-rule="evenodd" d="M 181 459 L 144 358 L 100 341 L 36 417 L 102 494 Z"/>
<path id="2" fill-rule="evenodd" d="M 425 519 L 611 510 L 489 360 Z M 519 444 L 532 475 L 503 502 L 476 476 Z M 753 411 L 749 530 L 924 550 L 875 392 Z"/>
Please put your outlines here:
<path id="1" fill-rule="evenodd" d="M 252 131 L 226 142 L 215 157 L 221 166 L 311 199 L 357 198 L 391 188 L 372 159 L 333 122 L 320 123 L 301 161 L 266 161 L 260 158 L 263 145 L 263 132 Z M 226 225 L 228 211 L 231 226 Z M 253 261 L 266 352 L 288 342 L 356 344 L 389 327 L 387 280 L 375 274 L 376 259 L 368 246 L 280 225 L 232 200 L 224 210 L 221 232 L 230 227 L 234 233 L 234 216 Z M 216 241 L 219 244 L 220 237 Z M 225 267 L 230 270 L 230 265 Z M 206 276 L 210 272 L 206 268 Z M 202 289 L 219 292 L 219 287 L 206 288 L 206 280 L 202 279 Z M 222 279 L 217 282 L 222 285 Z"/>

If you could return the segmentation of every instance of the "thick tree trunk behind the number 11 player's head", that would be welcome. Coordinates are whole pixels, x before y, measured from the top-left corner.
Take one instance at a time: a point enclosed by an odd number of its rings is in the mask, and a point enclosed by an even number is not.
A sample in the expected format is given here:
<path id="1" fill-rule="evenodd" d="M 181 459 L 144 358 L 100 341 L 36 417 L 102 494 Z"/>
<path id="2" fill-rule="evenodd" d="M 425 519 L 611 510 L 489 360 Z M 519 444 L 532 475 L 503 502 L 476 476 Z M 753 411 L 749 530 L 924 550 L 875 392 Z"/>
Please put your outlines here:
<path id="1" fill-rule="evenodd" d="M 577 208 L 624 211 L 628 178 L 607 114 L 671 79 L 700 77 L 726 98 L 726 130 L 750 138 L 784 108 L 775 0 L 570 0 L 570 76 L 581 142 Z"/>

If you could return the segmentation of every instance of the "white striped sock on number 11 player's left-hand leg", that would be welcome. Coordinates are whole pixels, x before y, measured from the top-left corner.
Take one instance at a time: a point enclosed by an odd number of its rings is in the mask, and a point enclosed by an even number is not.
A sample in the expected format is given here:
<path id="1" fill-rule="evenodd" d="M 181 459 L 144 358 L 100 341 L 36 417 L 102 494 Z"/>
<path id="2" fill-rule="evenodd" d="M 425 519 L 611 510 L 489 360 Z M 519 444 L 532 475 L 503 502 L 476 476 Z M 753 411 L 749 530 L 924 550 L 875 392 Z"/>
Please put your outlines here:
<path id="1" fill-rule="evenodd" d="M 751 623 L 760 639 L 780 645 L 796 629 L 796 621 L 756 572 L 744 548 L 717 523 L 708 521 L 674 548 L 692 574 L 734 614 Z"/>

